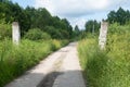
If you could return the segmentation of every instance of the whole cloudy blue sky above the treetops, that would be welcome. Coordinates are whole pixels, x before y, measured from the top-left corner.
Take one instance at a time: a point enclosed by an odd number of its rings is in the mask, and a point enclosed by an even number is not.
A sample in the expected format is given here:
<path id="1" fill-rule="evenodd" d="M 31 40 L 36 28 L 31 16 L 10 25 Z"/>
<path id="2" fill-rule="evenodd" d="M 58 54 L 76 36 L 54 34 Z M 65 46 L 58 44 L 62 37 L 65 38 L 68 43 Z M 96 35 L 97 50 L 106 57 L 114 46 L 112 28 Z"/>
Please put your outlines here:
<path id="1" fill-rule="evenodd" d="M 112 10 L 118 10 L 119 7 L 130 10 L 130 0 L 12 0 L 21 7 L 46 8 L 53 16 L 67 18 L 80 29 L 84 28 L 84 23 L 89 20 L 102 21 L 107 18 Z"/>

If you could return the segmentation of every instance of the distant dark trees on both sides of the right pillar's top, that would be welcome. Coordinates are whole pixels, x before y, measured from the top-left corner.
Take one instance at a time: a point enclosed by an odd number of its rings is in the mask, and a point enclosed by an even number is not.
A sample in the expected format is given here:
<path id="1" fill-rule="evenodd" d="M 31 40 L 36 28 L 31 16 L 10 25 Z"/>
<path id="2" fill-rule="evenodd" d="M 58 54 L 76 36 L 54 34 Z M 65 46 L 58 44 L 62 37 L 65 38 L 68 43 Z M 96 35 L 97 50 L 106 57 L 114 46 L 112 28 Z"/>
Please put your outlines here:
<path id="1" fill-rule="evenodd" d="M 104 20 L 108 22 L 109 24 L 118 23 L 119 25 L 125 25 L 127 23 L 130 23 L 130 11 L 123 10 L 122 8 L 119 8 L 117 11 L 110 11 L 107 14 L 107 18 Z M 90 20 L 86 22 L 86 32 L 87 33 L 99 33 L 101 23 L 96 20 Z"/>

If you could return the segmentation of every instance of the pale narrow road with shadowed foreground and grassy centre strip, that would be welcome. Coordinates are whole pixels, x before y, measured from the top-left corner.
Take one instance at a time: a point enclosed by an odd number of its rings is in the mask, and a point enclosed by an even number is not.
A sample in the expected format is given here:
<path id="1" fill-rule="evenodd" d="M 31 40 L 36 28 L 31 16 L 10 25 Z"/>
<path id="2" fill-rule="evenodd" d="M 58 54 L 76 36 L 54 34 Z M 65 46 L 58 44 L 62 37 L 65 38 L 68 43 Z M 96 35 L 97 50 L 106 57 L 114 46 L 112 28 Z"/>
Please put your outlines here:
<path id="1" fill-rule="evenodd" d="M 76 47 L 72 42 L 52 53 L 5 87 L 86 87 Z"/>

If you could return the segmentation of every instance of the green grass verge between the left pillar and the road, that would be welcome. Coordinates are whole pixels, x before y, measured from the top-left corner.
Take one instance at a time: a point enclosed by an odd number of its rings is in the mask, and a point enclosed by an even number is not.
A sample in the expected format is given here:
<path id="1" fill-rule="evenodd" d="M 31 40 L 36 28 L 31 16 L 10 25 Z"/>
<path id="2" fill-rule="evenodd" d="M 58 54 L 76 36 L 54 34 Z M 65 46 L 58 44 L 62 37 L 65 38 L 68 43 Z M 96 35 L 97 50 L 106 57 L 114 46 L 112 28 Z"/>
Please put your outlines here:
<path id="1" fill-rule="evenodd" d="M 15 46 L 11 40 L 0 41 L 0 87 L 67 44 L 67 40 L 30 41 L 25 39 Z"/>

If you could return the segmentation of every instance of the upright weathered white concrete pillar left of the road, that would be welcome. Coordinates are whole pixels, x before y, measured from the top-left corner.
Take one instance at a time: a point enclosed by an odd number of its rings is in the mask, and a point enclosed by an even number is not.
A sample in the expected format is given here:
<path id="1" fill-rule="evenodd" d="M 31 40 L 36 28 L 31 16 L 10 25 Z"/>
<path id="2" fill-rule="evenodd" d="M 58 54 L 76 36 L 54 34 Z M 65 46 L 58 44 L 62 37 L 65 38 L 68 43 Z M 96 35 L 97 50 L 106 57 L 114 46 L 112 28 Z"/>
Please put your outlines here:
<path id="1" fill-rule="evenodd" d="M 12 24 L 12 38 L 13 38 L 13 44 L 18 45 L 21 40 L 21 30 L 20 30 L 20 25 L 17 22 L 13 22 Z"/>

